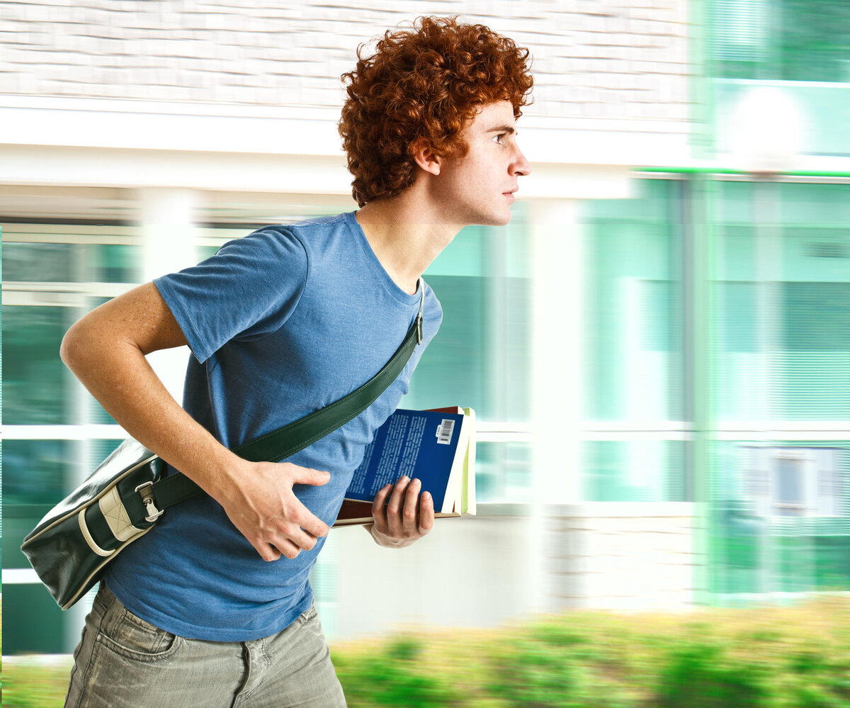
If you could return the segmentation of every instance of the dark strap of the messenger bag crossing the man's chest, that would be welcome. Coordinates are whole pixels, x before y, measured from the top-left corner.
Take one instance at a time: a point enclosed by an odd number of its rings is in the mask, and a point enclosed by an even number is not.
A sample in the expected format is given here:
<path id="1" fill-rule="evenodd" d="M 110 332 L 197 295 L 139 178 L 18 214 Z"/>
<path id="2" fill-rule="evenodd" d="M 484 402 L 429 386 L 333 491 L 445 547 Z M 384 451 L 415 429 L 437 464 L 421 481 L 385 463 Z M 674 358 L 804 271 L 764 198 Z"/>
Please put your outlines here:
<path id="1" fill-rule="evenodd" d="M 356 418 L 372 403 L 375 403 L 383 391 L 385 391 L 394 380 L 399 377 L 403 368 L 411 358 L 416 345 L 422 343 L 422 309 L 425 305 L 425 284 L 419 279 L 419 312 L 416 314 L 411 328 L 407 330 L 405 340 L 395 351 L 383 368 L 365 384 L 355 391 L 343 396 L 334 403 L 329 403 L 325 408 L 320 408 L 303 418 L 293 420 L 275 431 L 271 431 L 246 442 L 236 448 L 233 452 L 244 460 L 252 462 L 278 462 L 285 460 L 299 450 L 306 448 L 328 433 L 337 430 L 349 420 Z M 148 496 L 152 493 L 152 499 Z M 167 477 L 154 482 L 145 490 L 146 500 L 143 502 L 139 494 L 128 494 L 122 499 L 127 512 L 131 518 L 147 518 L 149 521 L 166 509 L 176 506 L 181 502 L 193 497 L 205 494 L 195 482 L 186 477 L 182 472 L 174 471 Z M 152 502 L 154 507 L 147 505 Z M 136 513 L 133 513 L 133 512 Z M 159 513 L 155 513 L 159 512 Z"/>

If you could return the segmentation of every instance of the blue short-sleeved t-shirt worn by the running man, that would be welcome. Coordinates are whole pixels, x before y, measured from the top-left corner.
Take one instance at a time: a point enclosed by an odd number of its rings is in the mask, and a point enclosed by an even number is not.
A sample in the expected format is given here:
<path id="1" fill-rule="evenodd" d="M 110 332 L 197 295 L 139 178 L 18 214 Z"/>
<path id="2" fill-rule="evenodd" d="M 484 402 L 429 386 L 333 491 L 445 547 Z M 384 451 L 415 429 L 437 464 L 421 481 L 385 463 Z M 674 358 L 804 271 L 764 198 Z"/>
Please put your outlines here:
<path id="1" fill-rule="evenodd" d="M 424 283 L 424 281 L 423 281 Z M 384 271 L 354 212 L 267 226 L 199 265 L 156 279 L 189 342 L 184 408 L 234 448 L 371 379 L 419 310 Z M 331 525 L 366 445 L 407 392 L 442 310 L 425 286 L 422 345 L 362 414 L 287 461 L 331 473 L 296 494 Z M 309 608 L 322 548 L 266 562 L 209 496 L 178 505 L 127 546 L 106 584 L 134 614 L 195 639 L 268 637 Z"/>

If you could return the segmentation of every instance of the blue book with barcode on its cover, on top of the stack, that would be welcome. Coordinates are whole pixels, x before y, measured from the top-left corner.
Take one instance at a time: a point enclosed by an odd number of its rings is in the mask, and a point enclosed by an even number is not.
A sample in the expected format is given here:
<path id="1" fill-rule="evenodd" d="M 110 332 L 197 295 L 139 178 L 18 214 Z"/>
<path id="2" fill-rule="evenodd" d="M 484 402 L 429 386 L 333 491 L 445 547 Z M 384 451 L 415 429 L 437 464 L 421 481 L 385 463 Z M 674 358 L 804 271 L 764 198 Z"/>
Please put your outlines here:
<path id="1" fill-rule="evenodd" d="M 422 480 L 434 511 L 450 513 L 460 502 L 468 442 L 463 414 L 397 408 L 365 448 L 345 498 L 371 501 L 384 485 L 407 475 Z"/>

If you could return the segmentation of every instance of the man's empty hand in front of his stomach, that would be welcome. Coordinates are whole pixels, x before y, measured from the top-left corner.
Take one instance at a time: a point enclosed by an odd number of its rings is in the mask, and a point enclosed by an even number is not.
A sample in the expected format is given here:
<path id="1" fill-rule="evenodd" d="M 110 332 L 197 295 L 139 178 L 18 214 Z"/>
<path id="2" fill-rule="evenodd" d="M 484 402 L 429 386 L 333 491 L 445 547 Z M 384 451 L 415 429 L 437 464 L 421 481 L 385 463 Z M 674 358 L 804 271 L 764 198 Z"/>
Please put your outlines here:
<path id="1" fill-rule="evenodd" d="M 309 551 L 328 526 L 309 511 L 292 492 L 294 484 L 326 484 L 327 472 L 299 467 L 289 462 L 246 462 L 234 485 L 218 501 L 233 525 L 245 536 L 264 561 L 283 554 L 294 558 Z"/>

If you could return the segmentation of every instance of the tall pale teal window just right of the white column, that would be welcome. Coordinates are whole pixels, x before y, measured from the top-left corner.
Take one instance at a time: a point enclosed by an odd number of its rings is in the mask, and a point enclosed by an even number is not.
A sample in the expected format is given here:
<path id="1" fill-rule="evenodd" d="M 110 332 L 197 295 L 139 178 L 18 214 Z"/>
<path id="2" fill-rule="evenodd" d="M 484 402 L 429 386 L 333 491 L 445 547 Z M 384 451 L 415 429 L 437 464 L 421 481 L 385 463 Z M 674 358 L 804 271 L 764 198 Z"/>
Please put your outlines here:
<path id="1" fill-rule="evenodd" d="M 583 205 L 588 501 L 687 501 L 680 180 Z"/>

